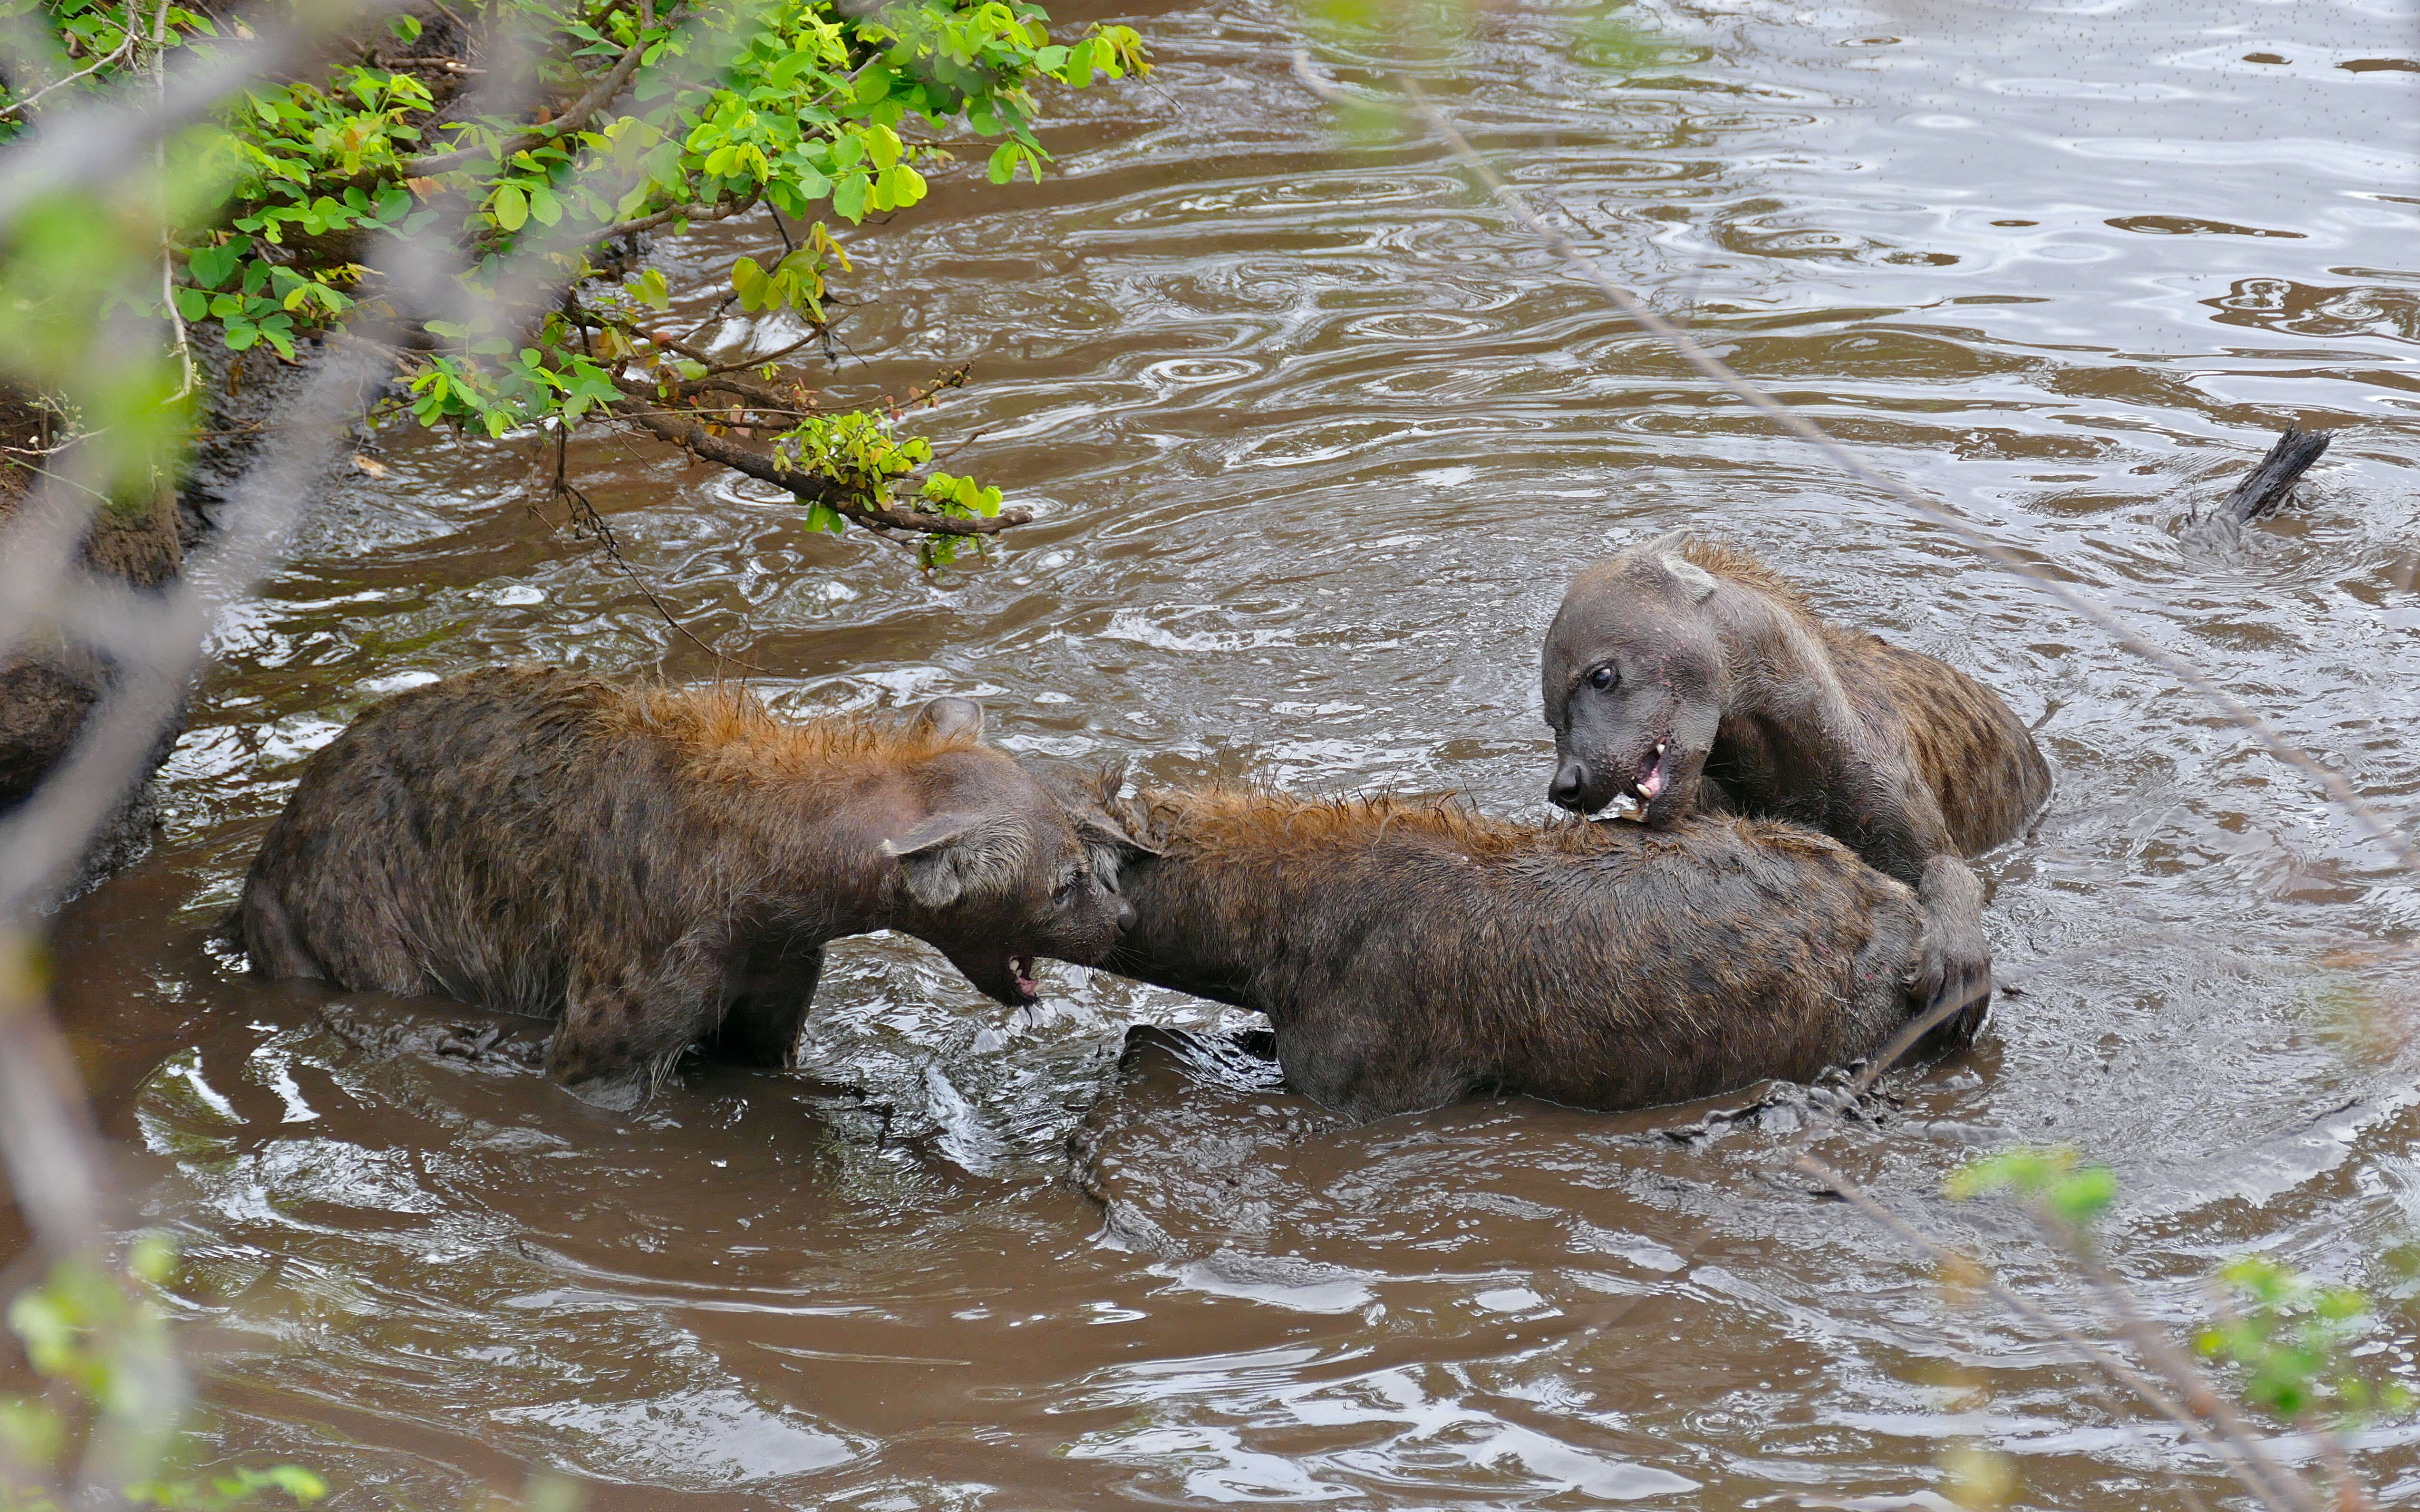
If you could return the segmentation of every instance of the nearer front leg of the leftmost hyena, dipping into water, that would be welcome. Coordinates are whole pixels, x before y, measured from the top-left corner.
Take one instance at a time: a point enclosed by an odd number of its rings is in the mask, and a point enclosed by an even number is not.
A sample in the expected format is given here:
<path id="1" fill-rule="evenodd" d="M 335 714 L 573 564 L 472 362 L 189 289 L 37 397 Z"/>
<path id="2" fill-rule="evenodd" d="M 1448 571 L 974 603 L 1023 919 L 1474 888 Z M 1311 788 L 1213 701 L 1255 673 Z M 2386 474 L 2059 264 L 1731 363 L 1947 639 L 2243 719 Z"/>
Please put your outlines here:
<path id="1" fill-rule="evenodd" d="M 576 963 L 547 1077 L 612 1113 L 641 1106 L 724 1006 L 724 948 L 682 939 L 636 960 Z"/>

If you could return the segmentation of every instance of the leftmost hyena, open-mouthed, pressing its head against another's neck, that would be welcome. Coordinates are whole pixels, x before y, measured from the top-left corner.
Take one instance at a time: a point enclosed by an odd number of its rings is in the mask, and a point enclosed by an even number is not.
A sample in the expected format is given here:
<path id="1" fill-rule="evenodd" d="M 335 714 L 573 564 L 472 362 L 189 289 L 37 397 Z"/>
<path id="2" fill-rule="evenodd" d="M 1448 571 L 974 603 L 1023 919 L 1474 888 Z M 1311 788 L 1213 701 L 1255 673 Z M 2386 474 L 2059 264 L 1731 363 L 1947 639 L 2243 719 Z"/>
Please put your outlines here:
<path id="1" fill-rule="evenodd" d="M 559 1018 L 547 1074 L 634 1108 L 704 1040 L 786 1064 L 825 941 L 912 934 L 1004 1004 L 1133 917 L 983 709 L 782 723 L 743 689 L 494 668 L 302 764 L 244 878 L 257 970 Z"/>

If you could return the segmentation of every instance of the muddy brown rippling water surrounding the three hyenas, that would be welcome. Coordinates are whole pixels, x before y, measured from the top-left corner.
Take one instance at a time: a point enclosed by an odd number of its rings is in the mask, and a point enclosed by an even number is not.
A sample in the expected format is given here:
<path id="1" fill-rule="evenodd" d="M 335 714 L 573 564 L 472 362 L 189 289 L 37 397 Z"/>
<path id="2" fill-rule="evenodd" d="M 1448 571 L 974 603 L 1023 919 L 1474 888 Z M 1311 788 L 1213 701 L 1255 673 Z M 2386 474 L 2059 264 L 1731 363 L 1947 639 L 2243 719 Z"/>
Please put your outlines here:
<path id="1" fill-rule="evenodd" d="M 1568 10 L 1498 10 L 1430 77 L 1619 278 L 2413 820 L 2408 2 L 1658 5 L 1648 56 Z M 1133 19 L 1162 70 L 1065 104 L 1048 184 L 854 237 L 845 331 L 883 356 L 835 385 L 973 358 L 932 431 L 980 431 L 961 464 L 1041 520 L 927 583 L 581 440 L 629 559 L 784 709 L 966 692 L 1019 750 L 1520 815 L 1561 581 L 1718 532 L 1989 680 L 2057 767 L 1984 861 L 2023 994 L 1817 1149 L 2067 1311 L 2018 1222 L 1941 1200 L 1977 1147 L 2110 1159 L 2113 1256 L 2176 1326 L 2243 1251 L 2393 1289 L 2420 1101 L 2413 975 L 2376 946 L 2420 927 L 2410 878 L 2161 675 L 1709 392 L 1433 148 L 1333 135 L 1285 75 L 1292 12 Z M 675 285 L 707 252 L 663 249 Z M 2183 513 L 2289 419 L 2343 428 L 2301 506 L 2188 549 Z M 2161 1466 L 2224 1495 L 2055 1343 L 1779 1178 L 1788 1096 L 1346 1130 L 1181 1040 L 1120 1084 L 1130 1023 L 1237 1014 L 1067 968 L 1007 1011 L 876 939 L 825 973 L 816 1079 L 690 1067 L 615 1120 L 448 1052 L 465 1009 L 249 980 L 206 929 L 368 702 L 499 658 L 711 670 L 532 518 L 528 452 L 385 445 L 225 627 L 157 854 L 60 927 L 133 1222 L 186 1246 L 213 1456 L 319 1466 L 346 1507 L 528 1466 L 593 1507 L 1938 1507 L 1982 1439 L 2023 1507 L 2183 1505 Z M 2410 1338 L 2376 1360 L 2410 1374 Z M 2413 1432 L 2360 1461 L 2420 1497 Z"/>

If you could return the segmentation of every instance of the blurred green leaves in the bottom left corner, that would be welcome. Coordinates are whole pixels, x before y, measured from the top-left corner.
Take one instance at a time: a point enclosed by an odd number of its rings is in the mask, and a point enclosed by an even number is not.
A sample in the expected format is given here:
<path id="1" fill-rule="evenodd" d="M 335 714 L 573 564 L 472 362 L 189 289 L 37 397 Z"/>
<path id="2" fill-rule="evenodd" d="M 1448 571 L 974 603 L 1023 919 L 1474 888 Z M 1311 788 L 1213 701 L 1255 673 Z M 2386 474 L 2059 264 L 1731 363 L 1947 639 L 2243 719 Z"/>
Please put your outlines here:
<path id="1" fill-rule="evenodd" d="M 10 1299 L 7 1326 L 48 1389 L 0 1396 L 0 1512 L 63 1512 L 58 1488 L 94 1461 L 119 1471 L 123 1500 L 167 1512 L 307 1507 L 327 1495 L 319 1476 L 290 1464 L 179 1468 L 184 1374 L 157 1302 L 174 1265 L 174 1246 L 145 1234 L 121 1270 L 60 1260 Z"/>

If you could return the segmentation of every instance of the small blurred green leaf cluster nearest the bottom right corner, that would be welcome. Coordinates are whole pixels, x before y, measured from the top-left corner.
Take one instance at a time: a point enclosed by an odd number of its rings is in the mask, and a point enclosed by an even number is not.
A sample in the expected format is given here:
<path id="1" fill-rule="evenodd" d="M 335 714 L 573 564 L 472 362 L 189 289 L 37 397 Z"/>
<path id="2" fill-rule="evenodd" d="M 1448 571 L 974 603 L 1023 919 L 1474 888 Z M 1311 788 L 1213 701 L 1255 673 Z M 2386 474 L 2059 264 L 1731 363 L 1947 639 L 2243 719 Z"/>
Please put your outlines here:
<path id="1" fill-rule="evenodd" d="M 2347 1432 L 2405 1415 L 2410 1386 L 2369 1369 L 2362 1340 L 2379 1309 L 2355 1287 L 2316 1282 L 2268 1256 L 2219 1270 L 2219 1318 L 2193 1345 L 2243 1372 L 2243 1398 L 2297 1427 Z"/>

